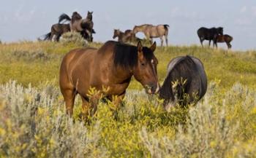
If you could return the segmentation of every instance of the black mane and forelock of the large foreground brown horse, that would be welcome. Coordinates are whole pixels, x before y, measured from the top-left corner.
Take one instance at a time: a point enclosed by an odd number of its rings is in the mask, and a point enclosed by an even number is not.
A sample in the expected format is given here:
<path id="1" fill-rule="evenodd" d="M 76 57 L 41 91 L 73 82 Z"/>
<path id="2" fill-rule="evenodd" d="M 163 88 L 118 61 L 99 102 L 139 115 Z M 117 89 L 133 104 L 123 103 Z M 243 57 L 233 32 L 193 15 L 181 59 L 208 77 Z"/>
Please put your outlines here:
<path id="1" fill-rule="evenodd" d="M 123 68 L 132 68 L 138 65 L 138 48 L 130 44 L 122 42 L 114 42 L 113 60 L 115 66 Z M 150 61 L 154 54 L 148 47 L 143 47 L 143 56 L 147 61 Z"/>

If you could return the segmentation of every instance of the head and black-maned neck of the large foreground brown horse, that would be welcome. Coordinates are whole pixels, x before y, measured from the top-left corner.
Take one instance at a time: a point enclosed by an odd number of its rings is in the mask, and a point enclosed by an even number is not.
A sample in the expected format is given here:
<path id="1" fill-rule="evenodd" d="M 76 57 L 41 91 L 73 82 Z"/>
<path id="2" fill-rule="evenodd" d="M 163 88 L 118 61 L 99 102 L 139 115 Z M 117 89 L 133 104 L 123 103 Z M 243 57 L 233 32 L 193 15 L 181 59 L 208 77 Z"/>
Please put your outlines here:
<path id="1" fill-rule="evenodd" d="M 137 47 L 118 43 L 113 54 L 115 66 L 129 70 L 149 94 L 154 94 L 159 90 L 158 60 L 153 53 L 156 47 L 156 42 L 149 48 L 143 47 L 141 42 L 138 42 Z"/>

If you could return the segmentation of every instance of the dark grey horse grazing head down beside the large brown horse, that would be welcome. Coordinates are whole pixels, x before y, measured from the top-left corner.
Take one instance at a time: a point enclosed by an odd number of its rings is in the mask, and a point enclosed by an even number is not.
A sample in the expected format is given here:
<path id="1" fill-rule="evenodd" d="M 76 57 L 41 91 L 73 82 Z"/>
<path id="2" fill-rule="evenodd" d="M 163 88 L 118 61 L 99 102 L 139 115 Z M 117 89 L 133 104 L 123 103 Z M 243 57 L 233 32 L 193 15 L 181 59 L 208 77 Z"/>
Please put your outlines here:
<path id="1" fill-rule="evenodd" d="M 166 110 L 179 103 L 197 103 L 206 94 L 207 77 L 203 63 L 192 56 L 174 58 L 167 66 L 167 77 L 159 90 Z"/>

